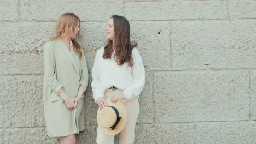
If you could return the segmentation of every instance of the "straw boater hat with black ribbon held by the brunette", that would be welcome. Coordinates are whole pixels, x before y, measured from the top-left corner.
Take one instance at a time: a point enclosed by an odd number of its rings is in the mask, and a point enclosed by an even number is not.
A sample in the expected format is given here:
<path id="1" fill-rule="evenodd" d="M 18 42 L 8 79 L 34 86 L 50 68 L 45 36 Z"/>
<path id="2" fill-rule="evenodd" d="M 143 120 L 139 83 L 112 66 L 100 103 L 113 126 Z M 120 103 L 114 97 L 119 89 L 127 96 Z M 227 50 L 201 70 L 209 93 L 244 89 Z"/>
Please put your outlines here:
<path id="1" fill-rule="evenodd" d="M 112 103 L 110 98 L 106 101 L 108 106 L 97 112 L 97 123 L 104 133 L 115 135 L 125 127 L 126 109 L 120 101 Z"/>

